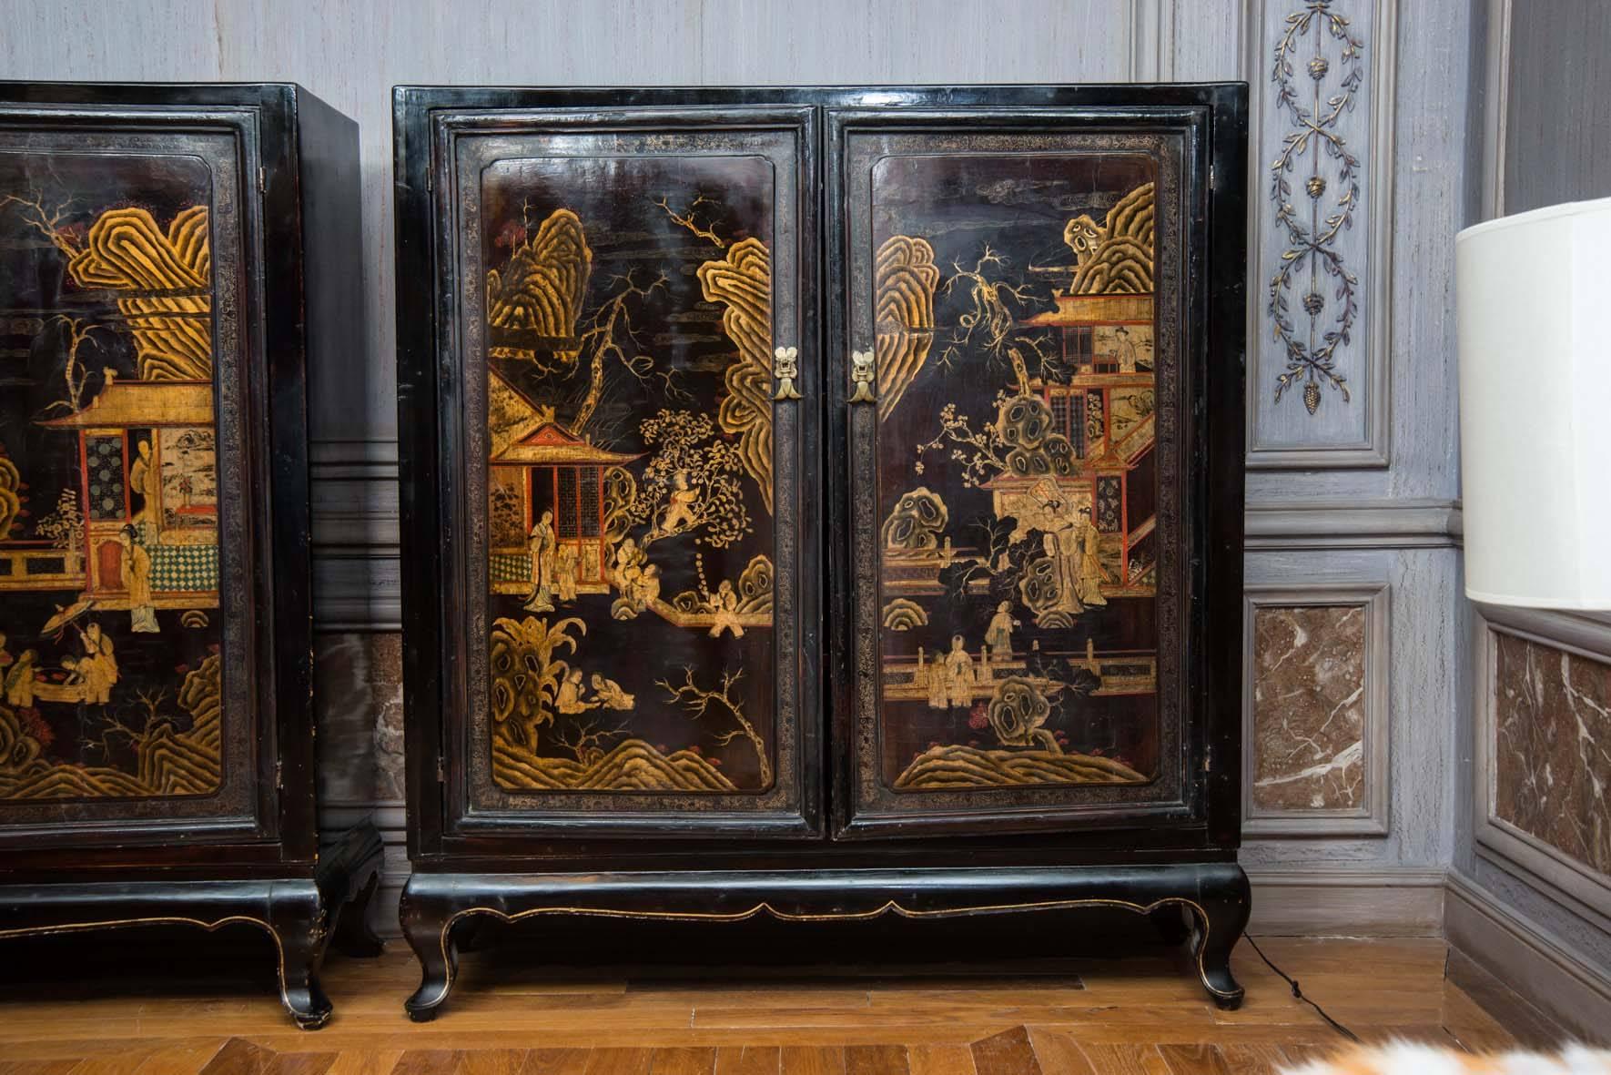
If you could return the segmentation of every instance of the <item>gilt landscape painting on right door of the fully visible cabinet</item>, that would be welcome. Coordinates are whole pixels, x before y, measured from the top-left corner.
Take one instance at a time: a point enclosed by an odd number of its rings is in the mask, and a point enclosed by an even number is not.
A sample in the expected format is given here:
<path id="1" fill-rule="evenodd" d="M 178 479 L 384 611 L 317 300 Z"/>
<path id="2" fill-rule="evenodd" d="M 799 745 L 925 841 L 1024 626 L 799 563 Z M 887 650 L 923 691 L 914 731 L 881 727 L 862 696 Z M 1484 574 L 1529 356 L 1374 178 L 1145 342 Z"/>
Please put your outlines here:
<path id="1" fill-rule="evenodd" d="M 1155 163 L 873 164 L 884 785 L 1158 769 Z M 851 396 L 855 405 L 857 396 Z"/>

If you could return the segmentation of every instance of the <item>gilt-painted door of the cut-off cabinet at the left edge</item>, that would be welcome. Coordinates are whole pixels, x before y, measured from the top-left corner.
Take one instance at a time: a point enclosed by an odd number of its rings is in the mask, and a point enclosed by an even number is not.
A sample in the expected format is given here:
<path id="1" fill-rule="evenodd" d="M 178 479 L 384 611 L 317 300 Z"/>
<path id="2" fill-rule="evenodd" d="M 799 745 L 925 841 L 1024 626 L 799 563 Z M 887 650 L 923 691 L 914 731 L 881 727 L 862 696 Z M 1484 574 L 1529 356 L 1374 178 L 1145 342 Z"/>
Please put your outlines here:
<path id="1" fill-rule="evenodd" d="M 245 108 L 0 106 L 11 864 L 274 832 L 258 127 Z"/>

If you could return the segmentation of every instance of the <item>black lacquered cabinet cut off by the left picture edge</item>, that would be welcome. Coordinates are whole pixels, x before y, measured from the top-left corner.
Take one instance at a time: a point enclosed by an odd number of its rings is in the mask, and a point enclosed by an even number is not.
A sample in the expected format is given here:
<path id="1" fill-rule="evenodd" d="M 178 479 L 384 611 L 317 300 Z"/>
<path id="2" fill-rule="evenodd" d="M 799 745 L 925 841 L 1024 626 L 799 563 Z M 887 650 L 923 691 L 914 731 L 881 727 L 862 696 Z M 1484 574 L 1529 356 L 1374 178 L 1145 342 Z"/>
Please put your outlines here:
<path id="1" fill-rule="evenodd" d="M 256 925 L 309 1028 L 332 930 L 379 951 L 311 704 L 306 369 L 359 280 L 306 90 L 0 82 L 0 938 Z"/>

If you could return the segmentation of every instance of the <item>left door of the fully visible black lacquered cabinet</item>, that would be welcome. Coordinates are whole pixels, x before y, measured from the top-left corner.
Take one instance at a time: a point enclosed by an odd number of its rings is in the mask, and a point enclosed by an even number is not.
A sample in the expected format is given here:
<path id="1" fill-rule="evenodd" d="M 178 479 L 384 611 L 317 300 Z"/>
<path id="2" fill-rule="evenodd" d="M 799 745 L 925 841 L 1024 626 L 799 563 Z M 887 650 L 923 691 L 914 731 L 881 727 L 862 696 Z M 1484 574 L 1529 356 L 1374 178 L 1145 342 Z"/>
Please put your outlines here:
<path id="1" fill-rule="evenodd" d="M 417 832 L 810 836 L 814 116 L 575 105 L 400 111 Z"/>

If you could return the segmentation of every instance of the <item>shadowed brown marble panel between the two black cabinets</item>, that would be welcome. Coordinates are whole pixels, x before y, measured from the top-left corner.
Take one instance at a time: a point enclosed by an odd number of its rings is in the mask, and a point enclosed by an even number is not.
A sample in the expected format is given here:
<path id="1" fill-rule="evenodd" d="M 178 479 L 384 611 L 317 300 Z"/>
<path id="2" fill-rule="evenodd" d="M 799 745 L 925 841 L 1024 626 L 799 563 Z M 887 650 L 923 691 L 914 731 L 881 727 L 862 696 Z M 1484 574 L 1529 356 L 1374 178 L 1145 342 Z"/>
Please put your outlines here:
<path id="1" fill-rule="evenodd" d="M 403 635 L 314 638 L 319 796 L 324 803 L 403 799 Z"/>

